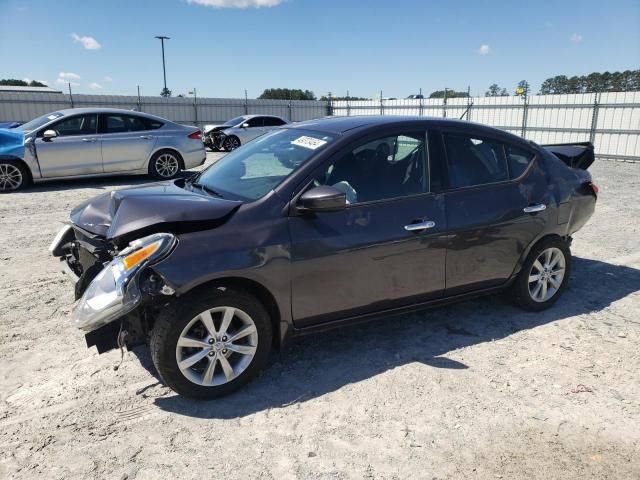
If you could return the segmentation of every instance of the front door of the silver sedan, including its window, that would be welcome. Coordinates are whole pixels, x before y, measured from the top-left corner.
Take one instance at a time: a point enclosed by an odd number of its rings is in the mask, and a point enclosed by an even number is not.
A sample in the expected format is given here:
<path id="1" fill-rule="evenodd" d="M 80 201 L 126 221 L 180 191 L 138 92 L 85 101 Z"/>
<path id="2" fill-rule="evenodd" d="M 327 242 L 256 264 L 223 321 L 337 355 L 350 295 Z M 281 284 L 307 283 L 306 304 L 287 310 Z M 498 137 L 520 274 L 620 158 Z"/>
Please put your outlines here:
<path id="1" fill-rule="evenodd" d="M 65 116 L 43 127 L 36 135 L 35 147 L 44 178 L 102 173 L 102 154 L 97 132 L 97 114 Z M 56 136 L 45 138 L 53 130 Z"/>

